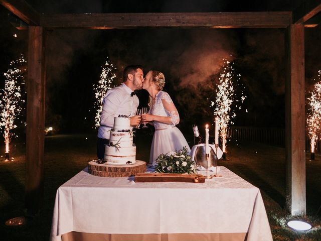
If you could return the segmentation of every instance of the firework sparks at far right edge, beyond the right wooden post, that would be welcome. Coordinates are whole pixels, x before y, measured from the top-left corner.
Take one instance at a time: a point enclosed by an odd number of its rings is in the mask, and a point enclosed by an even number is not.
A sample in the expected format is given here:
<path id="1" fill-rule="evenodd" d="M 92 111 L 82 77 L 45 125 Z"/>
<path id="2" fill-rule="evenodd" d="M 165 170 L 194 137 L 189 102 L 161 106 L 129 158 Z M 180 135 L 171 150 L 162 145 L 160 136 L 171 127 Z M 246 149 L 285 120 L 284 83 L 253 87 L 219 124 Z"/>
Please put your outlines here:
<path id="1" fill-rule="evenodd" d="M 321 70 L 318 71 L 319 81 L 314 84 L 311 96 L 308 99 L 307 130 L 310 139 L 311 152 L 314 152 L 315 144 L 321 134 Z"/>

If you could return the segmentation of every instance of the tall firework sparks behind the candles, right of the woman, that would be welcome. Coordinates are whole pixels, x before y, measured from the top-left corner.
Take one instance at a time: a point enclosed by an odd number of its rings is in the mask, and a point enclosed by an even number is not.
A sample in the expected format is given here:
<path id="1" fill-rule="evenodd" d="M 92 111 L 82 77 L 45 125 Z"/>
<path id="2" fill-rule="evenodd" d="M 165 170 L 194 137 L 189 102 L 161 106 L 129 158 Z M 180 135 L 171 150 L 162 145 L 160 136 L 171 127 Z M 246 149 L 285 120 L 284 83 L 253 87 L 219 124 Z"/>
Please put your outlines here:
<path id="1" fill-rule="evenodd" d="M 232 63 L 233 64 L 233 63 Z M 227 129 L 229 125 L 233 125 L 232 119 L 235 118 L 236 113 L 232 108 L 233 102 L 241 102 L 245 100 L 246 96 L 241 93 L 241 98 L 238 100 L 235 94 L 235 87 L 237 86 L 240 74 L 234 74 L 234 68 L 232 64 L 225 59 L 223 71 L 220 73 L 219 84 L 216 89 L 216 99 L 211 101 L 211 105 L 214 106 L 214 116 L 217 116 L 220 120 L 220 136 L 222 138 L 222 151 L 226 152 L 226 140 Z M 236 104 L 235 107 L 241 108 L 240 104 Z"/>

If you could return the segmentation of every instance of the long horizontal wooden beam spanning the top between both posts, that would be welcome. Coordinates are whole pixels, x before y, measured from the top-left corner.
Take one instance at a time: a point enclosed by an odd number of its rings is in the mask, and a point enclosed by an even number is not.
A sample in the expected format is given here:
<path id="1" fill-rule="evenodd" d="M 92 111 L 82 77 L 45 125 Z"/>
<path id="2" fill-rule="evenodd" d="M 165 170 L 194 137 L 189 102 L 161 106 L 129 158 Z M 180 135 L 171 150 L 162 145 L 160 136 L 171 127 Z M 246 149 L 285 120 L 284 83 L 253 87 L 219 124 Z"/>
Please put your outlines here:
<path id="1" fill-rule="evenodd" d="M 41 26 L 48 29 L 286 28 L 289 24 L 292 24 L 291 12 L 46 14 L 41 17 Z"/>

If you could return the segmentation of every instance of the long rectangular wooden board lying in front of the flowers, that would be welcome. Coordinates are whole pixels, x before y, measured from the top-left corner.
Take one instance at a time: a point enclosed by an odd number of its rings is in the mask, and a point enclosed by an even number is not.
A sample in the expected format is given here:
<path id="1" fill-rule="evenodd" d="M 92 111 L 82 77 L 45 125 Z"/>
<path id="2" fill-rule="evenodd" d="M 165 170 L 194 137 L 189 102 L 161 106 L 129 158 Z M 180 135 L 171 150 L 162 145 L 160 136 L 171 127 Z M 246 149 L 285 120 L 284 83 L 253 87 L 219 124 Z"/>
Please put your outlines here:
<path id="1" fill-rule="evenodd" d="M 205 177 L 200 174 L 176 173 L 139 173 L 135 175 L 135 182 L 193 182 L 204 183 Z"/>

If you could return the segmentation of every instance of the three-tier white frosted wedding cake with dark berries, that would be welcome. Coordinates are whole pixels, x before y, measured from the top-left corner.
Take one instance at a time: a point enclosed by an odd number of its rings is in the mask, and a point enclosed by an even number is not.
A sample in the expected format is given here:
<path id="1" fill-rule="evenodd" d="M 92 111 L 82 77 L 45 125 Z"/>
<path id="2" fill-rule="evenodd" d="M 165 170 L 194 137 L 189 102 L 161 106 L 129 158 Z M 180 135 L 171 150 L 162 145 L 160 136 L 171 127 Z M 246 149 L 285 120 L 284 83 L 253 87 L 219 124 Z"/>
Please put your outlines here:
<path id="1" fill-rule="evenodd" d="M 132 143 L 128 117 L 114 118 L 114 127 L 110 130 L 109 145 L 105 146 L 104 161 L 109 165 L 130 165 L 136 163 L 136 147 Z"/>

